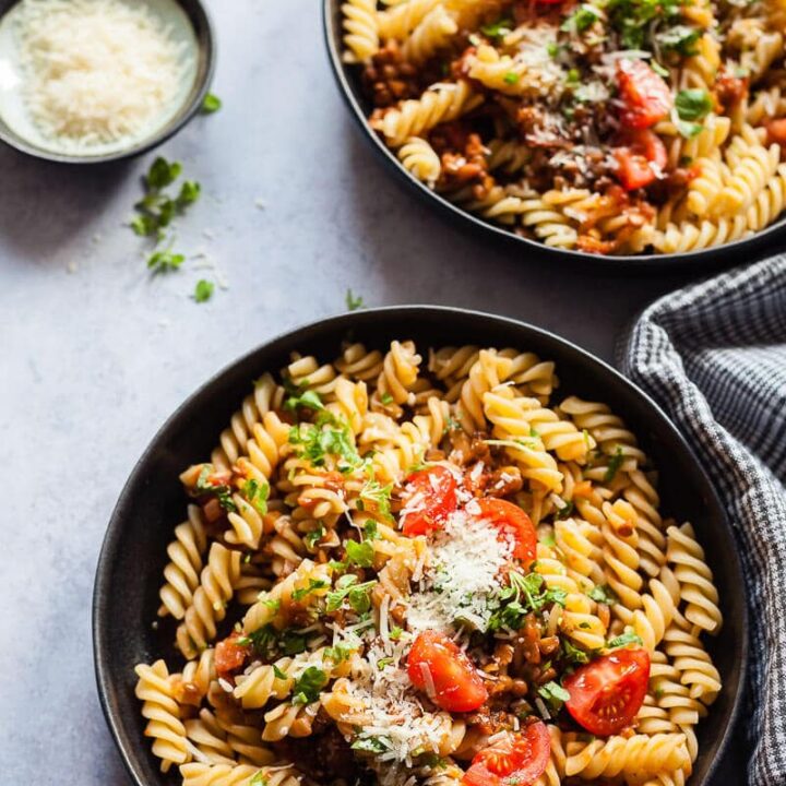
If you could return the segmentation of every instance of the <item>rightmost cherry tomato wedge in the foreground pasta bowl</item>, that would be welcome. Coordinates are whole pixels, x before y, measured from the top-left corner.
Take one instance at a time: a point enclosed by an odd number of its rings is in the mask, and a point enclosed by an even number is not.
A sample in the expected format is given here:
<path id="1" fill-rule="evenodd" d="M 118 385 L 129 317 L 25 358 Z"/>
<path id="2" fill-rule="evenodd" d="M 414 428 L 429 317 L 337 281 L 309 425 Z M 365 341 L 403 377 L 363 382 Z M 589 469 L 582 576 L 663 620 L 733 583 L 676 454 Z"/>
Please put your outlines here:
<path id="1" fill-rule="evenodd" d="M 619 650 L 577 668 L 562 681 L 573 719 L 595 735 L 614 735 L 630 726 L 644 703 L 650 653 Z"/>

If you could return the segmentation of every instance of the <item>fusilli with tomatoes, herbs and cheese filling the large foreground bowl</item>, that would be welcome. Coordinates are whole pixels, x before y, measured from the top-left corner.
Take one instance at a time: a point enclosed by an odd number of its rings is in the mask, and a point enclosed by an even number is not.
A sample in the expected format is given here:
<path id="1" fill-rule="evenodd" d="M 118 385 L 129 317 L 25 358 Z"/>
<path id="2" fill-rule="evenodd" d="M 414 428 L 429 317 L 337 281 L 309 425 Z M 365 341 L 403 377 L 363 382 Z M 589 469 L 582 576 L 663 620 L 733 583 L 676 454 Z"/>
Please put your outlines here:
<path id="1" fill-rule="evenodd" d="M 529 347 L 376 343 L 263 371 L 181 473 L 129 684 L 160 769 L 191 786 L 706 770 L 703 718 L 739 675 L 705 644 L 739 619 L 693 527 L 662 517 L 633 432 L 558 393 Z"/>

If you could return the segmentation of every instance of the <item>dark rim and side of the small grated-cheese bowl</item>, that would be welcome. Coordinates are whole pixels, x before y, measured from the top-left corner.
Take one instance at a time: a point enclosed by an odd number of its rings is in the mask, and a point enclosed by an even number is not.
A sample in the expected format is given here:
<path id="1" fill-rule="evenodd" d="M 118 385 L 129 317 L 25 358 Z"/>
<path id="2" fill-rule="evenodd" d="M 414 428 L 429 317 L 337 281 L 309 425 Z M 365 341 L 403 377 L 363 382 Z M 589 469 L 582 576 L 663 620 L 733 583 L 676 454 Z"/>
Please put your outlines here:
<path id="1" fill-rule="evenodd" d="M 4 16 L 21 0 L 0 0 L 0 19 Z M 211 82 L 215 72 L 216 62 L 216 35 L 213 26 L 213 20 L 207 8 L 202 0 L 176 0 L 178 5 L 182 8 L 189 17 L 191 25 L 196 35 L 196 46 L 199 50 L 199 66 L 196 69 L 196 78 L 191 88 L 190 98 L 183 102 L 178 114 L 169 120 L 166 126 L 156 131 L 156 133 L 145 136 L 136 144 L 124 150 L 107 153 L 105 155 L 83 155 L 56 153 L 37 145 L 31 144 L 23 136 L 12 131 L 2 120 L 0 120 L 0 141 L 10 147 L 17 150 L 33 158 L 39 160 L 52 162 L 56 164 L 107 164 L 109 162 L 122 160 L 123 158 L 133 158 L 135 156 L 147 153 L 174 136 L 187 123 L 189 123 L 194 115 L 202 108 Z"/>

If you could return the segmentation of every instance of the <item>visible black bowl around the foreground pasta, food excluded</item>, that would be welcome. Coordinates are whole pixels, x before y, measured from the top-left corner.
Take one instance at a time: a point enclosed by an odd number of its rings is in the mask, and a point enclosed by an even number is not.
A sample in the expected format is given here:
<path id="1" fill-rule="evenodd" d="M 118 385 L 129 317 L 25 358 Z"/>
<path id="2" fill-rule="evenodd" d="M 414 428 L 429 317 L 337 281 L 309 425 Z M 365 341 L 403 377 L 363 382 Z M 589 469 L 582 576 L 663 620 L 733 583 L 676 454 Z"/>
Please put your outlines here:
<path id="1" fill-rule="evenodd" d="M 691 786 L 705 783 L 725 749 L 739 708 L 748 657 L 745 583 L 731 528 L 701 464 L 657 405 L 611 367 L 532 325 L 460 309 L 425 306 L 356 311 L 281 336 L 214 377 L 194 393 L 151 442 L 120 495 L 98 560 L 93 640 L 98 693 L 107 723 L 138 786 L 176 783 L 163 776 L 143 737 L 134 696 L 134 664 L 166 657 L 178 664 L 169 624 L 154 630 L 166 546 L 183 517 L 178 474 L 210 455 L 218 433 L 263 371 L 277 371 L 298 350 L 332 359 L 342 341 L 383 348 L 394 337 L 428 346 L 472 343 L 513 346 L 557 362 L 560 391 L 608 403 L 639 436 L 660 472 L 663 511 L 693 522 L 722 598 L 725 624 L 710 641 L 723 690 L 699 728 L 701 745 Z"/>

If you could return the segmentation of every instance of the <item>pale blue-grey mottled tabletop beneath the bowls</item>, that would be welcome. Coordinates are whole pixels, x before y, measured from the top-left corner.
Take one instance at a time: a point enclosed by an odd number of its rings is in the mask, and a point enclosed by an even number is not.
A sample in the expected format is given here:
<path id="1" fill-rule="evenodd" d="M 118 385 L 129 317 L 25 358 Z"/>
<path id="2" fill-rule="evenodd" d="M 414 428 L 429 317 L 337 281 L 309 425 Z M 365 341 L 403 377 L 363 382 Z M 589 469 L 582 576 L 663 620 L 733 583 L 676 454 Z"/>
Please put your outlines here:
<path id="1" fill-rule="evenodd" d="M 609 359 L 626 322 L 686 281 L 538 265 L 413 201 L 353 128 L 317 5 L 213 3 L 224 109 L 162 150 L 203 186 L 177 246 L 226 277 L 206 305 L 189 294 L 211 271 L 152 279 L 123 226 L 152 156 L 74 169 L 0 150 L 2 784 L 128 783 L 94 687 L 95 563 L 144 445 L 207 377 L 344 310 L 347 287 L 370 306 L 509 314 Z"/>

